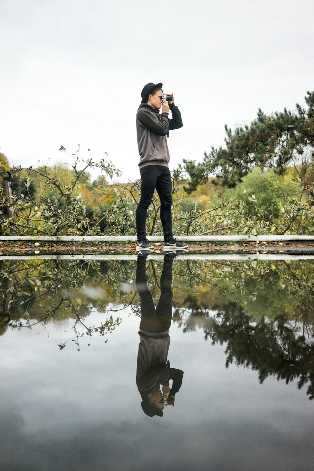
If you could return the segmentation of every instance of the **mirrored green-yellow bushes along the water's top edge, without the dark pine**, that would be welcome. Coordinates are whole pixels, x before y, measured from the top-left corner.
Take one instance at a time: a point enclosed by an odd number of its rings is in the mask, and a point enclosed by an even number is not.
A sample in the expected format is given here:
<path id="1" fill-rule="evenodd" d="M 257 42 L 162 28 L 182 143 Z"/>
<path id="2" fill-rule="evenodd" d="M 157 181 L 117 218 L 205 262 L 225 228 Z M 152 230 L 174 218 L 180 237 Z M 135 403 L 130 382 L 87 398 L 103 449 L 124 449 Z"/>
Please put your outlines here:
<path id="1" fill-rule="evenodd" d="M 116 260 L 9 260 L 0 262 L 0 275 L 11 279 L 2 283 L 2 304 L 12 295 L 12 320 L 30 318 L 86 317 L 94 309 L 102 312 L 119 304 L 131 306 L 138 315 L 139 298 L 135 290 L 136 263 Z M 160 296 L 162 260 L 148 265 L 148 283 L 153 298 Z M 314 275 L 310 261 L 227 261 L 178 260 L 173 271 L 176 320 L 182 323 L 191 296 L 197 309 L 214 309 L 235 301 L 259 320 L 278 314 L 287 319 L 313 323 Z"/>

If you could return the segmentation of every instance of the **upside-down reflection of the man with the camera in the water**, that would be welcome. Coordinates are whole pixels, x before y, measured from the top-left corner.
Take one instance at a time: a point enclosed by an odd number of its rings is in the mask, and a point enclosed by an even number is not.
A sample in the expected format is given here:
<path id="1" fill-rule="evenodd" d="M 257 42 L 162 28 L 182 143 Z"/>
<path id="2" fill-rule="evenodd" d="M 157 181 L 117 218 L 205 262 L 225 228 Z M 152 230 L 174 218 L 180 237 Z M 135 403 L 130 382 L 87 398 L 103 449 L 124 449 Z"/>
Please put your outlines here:
<path id="1" fill-rule="evenodd" d="M 161 274 L 161 297 L 155 309 L 147 288 L 145 256 L 137 258 L 136 287 L 142 303 L 140 343 L 137 355 L 137 389 L 142 396 L 142 409 L 146 415 L 162 417 L 163 399 L 174 406 L 175 394 L 182 384 L 183 371 L 170 368 L 167 362 L 172 317 L 172 264 L 171 253 L 165 255 Z M 173 380 L 169 387 L 169 380 Z M 160 390 L 162 385 L 162 393 Z"/>

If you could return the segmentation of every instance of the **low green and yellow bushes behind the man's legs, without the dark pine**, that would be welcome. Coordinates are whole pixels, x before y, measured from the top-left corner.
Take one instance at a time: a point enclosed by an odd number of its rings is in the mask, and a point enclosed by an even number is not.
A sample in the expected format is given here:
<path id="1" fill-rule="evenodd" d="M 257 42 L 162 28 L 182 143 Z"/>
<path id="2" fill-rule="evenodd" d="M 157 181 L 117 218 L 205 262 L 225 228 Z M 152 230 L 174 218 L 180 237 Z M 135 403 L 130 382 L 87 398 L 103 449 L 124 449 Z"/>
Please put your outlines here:
<path id="1" fill-rule="evenodd" d="M 10 208 L 14 216 L 1 218 L 0 234 L 8 235 L 12 228 L 20 235 L 136 234 L 140 181 L 108 185 L 100 175 L 90 183 L 91 168 L 109 176 L 113 171 L 119 175 L 119 171 L 105 161 L 84 162 L 79 150 L 70 156 L 74 160 L 70 168 L 56 164 L 52 168 L 12 170 L 14 202 Z M 81 161 L 83 168 L 79 170 Z M 236 188 L 220 187 L 219 195 L 214 195 L 217 187 L 207 182 L 187 196 L 182 192 L 182 169 L 177 169 L 172 177 L 174 231 L 177 235 L 314 234 L 312 178 L 310 174 L 300 191 L 296 171 L 280 176 L 273 170 L 256 168 Z M 3 191 L 0 201 L 5 214 Z M 157 193 L 147 211 L 146 232 L 162 235 Z"/>

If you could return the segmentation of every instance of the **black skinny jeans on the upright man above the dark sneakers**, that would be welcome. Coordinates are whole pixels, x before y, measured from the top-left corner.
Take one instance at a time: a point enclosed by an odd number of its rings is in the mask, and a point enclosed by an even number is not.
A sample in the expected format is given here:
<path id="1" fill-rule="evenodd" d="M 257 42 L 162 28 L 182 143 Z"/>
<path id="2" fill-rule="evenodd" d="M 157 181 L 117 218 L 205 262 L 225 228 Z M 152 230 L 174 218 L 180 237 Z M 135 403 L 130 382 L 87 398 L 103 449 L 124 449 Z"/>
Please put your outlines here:
<path id="1" fill-rule="evenodd" d="M 146 239 L 146 217 L 147 208 L 152 203 L 155 188 L 157 190 L 161 208 L 160 219 L 163 229 L 163 237 L 166 242 L 173 239 L 172 217 L 171 217 L 171 174 L 168 167 L 161 165 L 147 165 L 141 168 L 141 198 L 135 213 L 137 225 L 137 240 Z"/>

